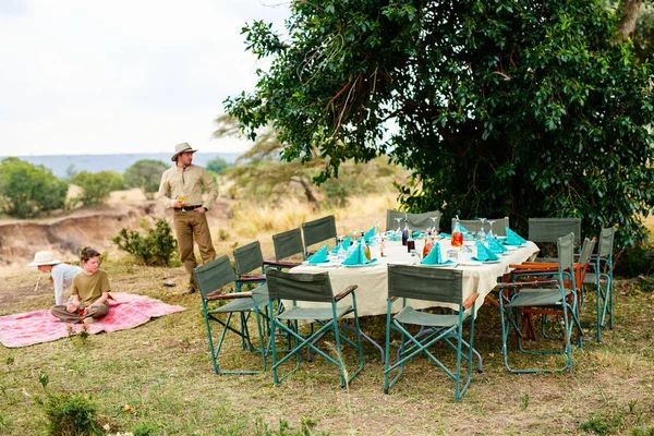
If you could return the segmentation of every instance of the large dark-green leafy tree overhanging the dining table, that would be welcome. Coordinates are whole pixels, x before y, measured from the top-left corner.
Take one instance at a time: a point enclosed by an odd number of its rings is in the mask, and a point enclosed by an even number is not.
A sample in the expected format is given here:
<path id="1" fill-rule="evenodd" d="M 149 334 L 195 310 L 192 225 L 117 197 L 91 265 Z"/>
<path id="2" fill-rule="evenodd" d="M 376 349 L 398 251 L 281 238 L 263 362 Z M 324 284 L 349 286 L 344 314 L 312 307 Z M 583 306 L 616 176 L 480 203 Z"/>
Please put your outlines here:
<path id="1" fill-rule="evenodd" d="M 413 172 L 409 210 L 510 215 L 519 230 L 577 216 L 631 244 L 654 204 L 653 69 L 618 22 L 588 0 L 298 0 L 288 41 L 243 29 L 275 58 L 225 104 L 250 137 L 272 123 L 283 158 L 328 157 L 318 182 L 388 154 Z"/>

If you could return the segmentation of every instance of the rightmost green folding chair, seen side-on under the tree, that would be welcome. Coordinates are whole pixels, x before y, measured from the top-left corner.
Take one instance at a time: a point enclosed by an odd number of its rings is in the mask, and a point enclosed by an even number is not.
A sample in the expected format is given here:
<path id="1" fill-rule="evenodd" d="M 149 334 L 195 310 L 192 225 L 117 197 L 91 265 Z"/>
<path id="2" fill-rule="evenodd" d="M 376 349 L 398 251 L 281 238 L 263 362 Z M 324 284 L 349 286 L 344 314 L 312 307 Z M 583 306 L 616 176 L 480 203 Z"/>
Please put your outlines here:
<path id="1" fill-rule="evenodd" d="M 595 339 L 602 340 L 602 329 L 614 327 L 614 283 L 613 283 L 613 247 L 617 229 L 614 227 L 602 229 L 597 254 L 592 256 L 590 270 L 585 276 L 584 284 L 595 286 L 597 295 L 597 330 Z M 608 322 L 607 322 L 608 316 Z"/>

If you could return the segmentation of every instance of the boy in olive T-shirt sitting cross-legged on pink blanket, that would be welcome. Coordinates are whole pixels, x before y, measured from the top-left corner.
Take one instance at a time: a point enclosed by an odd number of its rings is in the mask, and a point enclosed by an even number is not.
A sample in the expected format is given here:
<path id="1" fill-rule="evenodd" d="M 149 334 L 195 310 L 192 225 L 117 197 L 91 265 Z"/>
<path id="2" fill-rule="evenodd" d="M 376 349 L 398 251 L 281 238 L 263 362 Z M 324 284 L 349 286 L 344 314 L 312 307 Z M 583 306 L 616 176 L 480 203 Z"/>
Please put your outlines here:
<path id="1" fill-rule="evenodd" d="M 72 300 L 65 305 L 52 306 L 50 313 L 64 323 L 93 324 L 109 312 L 109 277 L 98 269 L 100 253 L 87 246 L 80 257 L 82 272 L 73 278 Z"/>

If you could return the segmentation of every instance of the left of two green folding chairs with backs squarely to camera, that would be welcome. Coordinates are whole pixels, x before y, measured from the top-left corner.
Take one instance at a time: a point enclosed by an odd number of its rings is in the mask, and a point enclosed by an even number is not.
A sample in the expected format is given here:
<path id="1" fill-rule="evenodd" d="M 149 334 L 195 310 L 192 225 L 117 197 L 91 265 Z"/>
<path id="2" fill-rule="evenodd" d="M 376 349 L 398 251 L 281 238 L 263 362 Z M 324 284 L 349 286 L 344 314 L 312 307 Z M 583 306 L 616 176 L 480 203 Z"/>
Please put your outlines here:
<path id="1" fill-rule="evenodd" d="M 348 287 L 337 295 L 331 290 L 331 281 L 327 272 L 320 274 L 290 274 L 277 269 L 266 271 L 267 284 L 270 301 L 291 300 L 292 306 L 286 307 L 286 311 L 275 314 L 271 320 L 271 356 L 272 356 L 272 377 L 275 386 L 279 385 L 289 375 L 300 368 L 301 351 L 304 348 L 311 348 L 317 354 L 339 368 L 341 387 L 350 384 L 354 377 L 363 370 L 363 349 L 361 347 L 361 329 L 359 326 L 359 316 L 356 313 L 356 296 L 354 290 L 356 284 Z M 338 304 L 343 299 L 350 296 L 352 304 Z M 325 303 L 324 307 L 300 307 L 298 302 Z M 339 319 L 348 314 L 354 316 L 355 339 L 349 339 L 343 336 L 338 326 Z M 298 330 L 298 322 L 311 322 L 317 324 L 316 331 L 308 336 L 302 336 Z M 281 359 L 278 359 L 275 338 L 278 332 L 288 335 L 291 338 L 290 351 Z M 323 336 L 334 334 L 336 355 L 330 355 L 327 351 L 318 348 L 318 342 Z M 284 337 L 286 338 L 286 337 Z M 356 349 L 359 354 L 359 366 L 354 372 L 346 370 L 341 344 L 348 343 Z M 295 358 L 295 365 L 281 377 L 279 376 L 280 366 L 292 358 Z M 349 375 L 349 376 L 348 376 Z"/>

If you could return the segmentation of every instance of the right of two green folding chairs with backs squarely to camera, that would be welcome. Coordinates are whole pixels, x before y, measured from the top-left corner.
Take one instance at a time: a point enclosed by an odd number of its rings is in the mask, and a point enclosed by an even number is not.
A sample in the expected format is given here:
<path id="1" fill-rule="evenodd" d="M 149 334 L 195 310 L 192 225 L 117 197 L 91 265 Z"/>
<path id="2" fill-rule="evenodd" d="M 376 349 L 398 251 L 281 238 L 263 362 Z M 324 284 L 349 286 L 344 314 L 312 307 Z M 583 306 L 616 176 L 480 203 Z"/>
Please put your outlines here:
<path id="1" fill-rule="evenodd" d="M 384 363 L 384 393 L 402 375 L 404 364 L 420 353 L 425 353 L 436 365 L 455 380 L 455 399 L 459 401 L 472 377 L 473 339 L 474 339 L 474 310 L 479 296 L 474 292 L 469 298 L 463 295 L 463 272 L 456 269 L 436 269 L 420 266 L 388 265 L 388 308 L 386 315 L 386 359 Z M 402 299 L 402 308 L 392 315 L 392 304 L 397 299 Z M 431 302 L 458 304 L 458 314 L 440 315 L 416 311 L 407 303 L 407 299 Z M 468 352 L 462 350 L 463 323 L 470 322 L 470 337 Z M 429 335 L 419 337 L 410 332 L 410 326 L 431 328 Z M 390 364 L 390 336 L 391 331 L 401 335 L 399 359 Z M 445 366 L 434 352 L 429 350 L 436 342 L 443 340 L 456 351 L 456 367 Z M 410 347 L 405 348 L 405 343 Z M 464 380 L 461 379 L 461 361 L 465 361 L 468 370 Z M 391 379 L 391 373 L 398 373 Z"/>

